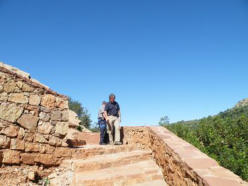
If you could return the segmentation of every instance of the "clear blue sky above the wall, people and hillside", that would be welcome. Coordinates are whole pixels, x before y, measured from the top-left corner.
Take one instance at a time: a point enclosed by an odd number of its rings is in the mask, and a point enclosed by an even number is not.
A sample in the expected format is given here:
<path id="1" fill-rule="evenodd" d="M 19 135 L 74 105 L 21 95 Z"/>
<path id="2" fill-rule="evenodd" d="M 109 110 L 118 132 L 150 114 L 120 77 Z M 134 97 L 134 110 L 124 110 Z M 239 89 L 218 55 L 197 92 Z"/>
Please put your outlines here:
<path id="1" fill-rule="evenodd" d="M 122 125 L 216 114 L 248 97 L 248 0 L 0 0 L 0 61 Z"/>

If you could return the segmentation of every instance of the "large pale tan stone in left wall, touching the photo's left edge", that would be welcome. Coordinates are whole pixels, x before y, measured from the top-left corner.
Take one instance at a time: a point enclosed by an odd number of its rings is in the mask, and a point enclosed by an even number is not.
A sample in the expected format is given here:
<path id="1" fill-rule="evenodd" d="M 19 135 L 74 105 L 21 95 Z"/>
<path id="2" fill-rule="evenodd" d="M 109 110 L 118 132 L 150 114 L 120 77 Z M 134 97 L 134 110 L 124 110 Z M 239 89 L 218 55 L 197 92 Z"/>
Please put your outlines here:
<path id="1" fill-rule="evenodd" d="M 14 103 L 2 103 L 0 105 L 0 118 L 9 122 L 16 122 L 22 112 L 23 108 Z"/>

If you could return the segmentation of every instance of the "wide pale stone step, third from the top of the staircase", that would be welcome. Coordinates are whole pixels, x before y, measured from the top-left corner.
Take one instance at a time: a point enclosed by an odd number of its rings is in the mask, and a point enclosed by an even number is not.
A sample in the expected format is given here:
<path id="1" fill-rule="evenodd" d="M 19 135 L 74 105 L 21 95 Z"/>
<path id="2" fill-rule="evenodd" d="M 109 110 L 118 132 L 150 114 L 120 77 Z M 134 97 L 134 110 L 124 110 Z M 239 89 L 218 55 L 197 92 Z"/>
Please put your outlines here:
<path id="1" fill-rule="evenodd" d="M 150 159 L 120 167 L 110 167 L 88 172 L 76 172 L 74 174 L 72 185 L 135 185 L 154 180 L 163 180 L 163 175 L 157 164 Z M 164 184 L 161 185 L 166 184 L 164 182 Z"/>

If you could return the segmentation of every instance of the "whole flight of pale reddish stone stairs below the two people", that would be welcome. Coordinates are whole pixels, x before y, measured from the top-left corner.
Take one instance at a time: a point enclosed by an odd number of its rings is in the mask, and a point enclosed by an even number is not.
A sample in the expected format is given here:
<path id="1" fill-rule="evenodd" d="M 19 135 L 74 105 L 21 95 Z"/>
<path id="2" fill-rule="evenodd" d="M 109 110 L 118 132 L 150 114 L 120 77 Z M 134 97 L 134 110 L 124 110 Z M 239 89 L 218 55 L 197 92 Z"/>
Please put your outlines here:
<path id="1" fill-rule="evenodd" d="M 60 169 L 64 171 L 52 175 L 54 178 L 50 177 L 51 185 L 166 185 L 150 150 L 131 145 L 86 145 L 82 148 L 83 156 L 76 154 L 73 159 L 62 162 Z"/>

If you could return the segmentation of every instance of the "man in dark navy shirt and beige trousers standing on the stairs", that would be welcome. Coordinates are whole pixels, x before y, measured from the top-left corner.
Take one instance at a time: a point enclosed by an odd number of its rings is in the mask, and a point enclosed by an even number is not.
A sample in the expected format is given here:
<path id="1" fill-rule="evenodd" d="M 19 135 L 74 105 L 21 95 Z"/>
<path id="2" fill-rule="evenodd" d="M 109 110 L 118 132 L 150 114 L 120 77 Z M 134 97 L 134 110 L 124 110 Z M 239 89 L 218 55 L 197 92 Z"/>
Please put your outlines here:
<path id="1" fill-rule="evenodd" d="M 107 121 L 107 132 L 110 144 L 121 145 L 120 141 L 120 122 L 121 112 L 120 106 L 115 101 L 115 95 L 109 95 L 109 102 L 105 106 L 104 117 Z M 114 133 L 114 138 L 113 138 Z M 113 143 L 114 141 L 114 143 Z"/>

